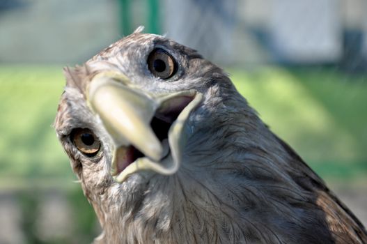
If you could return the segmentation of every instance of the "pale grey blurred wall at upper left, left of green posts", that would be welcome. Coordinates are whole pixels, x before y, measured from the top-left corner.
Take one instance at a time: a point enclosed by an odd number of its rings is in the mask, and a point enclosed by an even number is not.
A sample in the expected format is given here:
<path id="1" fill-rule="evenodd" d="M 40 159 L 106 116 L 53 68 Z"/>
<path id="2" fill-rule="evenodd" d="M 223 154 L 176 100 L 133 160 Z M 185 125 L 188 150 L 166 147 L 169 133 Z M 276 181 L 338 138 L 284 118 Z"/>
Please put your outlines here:
<path id="1" fill-rule="evenodd" d="M 19 3 L 0 12 L 0 62 L 82 62 L 120 38 L 114 1 Z"/>

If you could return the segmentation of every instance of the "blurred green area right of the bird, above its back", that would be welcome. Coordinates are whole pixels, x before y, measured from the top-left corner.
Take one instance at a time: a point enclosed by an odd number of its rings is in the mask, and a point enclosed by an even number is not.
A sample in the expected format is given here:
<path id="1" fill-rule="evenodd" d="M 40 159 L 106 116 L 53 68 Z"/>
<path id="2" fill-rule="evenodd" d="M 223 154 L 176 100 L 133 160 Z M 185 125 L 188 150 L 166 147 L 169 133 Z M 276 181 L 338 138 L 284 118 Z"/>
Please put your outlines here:
<path id="1" fill-rule="evenodd" d="M 366 176 L 366 75 L 333 68 L 230 71 L 263 121 L 318 174 Z"/>

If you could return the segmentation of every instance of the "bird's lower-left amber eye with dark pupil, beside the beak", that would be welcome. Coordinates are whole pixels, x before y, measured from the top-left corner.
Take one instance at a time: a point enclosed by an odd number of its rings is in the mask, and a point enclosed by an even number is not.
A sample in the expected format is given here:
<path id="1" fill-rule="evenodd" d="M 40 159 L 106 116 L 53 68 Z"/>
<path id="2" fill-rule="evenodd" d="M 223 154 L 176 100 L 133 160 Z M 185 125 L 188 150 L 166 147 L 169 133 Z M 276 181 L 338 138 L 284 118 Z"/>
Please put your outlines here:
<path id="1" fill-rule="evenodd" d="M 78 150 L 88 157 L 92 157 L 100 151 L 100 140 L 89 129 L 78 128 L 73 130 L 71 139 Z"/>

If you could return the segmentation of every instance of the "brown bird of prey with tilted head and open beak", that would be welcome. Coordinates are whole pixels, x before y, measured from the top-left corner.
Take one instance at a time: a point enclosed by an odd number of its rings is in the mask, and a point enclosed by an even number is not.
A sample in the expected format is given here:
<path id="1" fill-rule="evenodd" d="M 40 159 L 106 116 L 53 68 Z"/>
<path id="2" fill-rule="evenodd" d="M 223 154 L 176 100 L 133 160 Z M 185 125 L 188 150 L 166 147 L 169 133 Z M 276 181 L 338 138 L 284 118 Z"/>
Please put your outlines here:
<path id="1" fill-rule="evenodd" d="M 367 243 L 221 68 L 139 28 L 76 68 L 54 127 L 95 243 Z"/>

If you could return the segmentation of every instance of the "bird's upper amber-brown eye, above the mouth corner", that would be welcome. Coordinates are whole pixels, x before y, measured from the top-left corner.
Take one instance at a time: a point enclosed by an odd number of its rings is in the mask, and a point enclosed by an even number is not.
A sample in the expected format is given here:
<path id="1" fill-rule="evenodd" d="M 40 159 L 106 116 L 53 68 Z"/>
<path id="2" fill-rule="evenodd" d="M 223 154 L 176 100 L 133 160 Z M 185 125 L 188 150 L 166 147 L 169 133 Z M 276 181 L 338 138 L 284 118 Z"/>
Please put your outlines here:
<path id="1" fill-rule="evenodd" d="M 172 56 L 164 49 L 154 49 L 148 56 L 148 68 L 150 72 L 162 79 L 169 79 L 175 75 L 177 64 Z"/>

